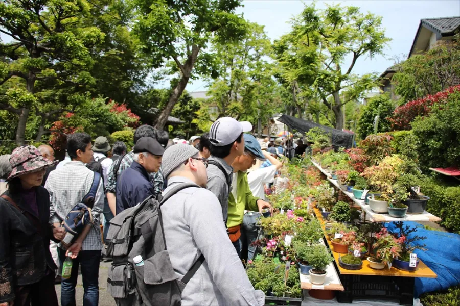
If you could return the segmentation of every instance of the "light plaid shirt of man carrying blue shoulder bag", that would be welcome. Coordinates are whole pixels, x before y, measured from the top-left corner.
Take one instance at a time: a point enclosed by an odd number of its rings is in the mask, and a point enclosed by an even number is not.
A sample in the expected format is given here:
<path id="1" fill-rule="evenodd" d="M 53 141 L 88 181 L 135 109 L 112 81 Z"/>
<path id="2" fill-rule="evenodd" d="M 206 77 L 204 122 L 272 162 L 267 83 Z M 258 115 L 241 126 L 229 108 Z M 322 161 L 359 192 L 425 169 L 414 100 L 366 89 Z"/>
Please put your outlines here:
<path id="1" fill-rule="evenodd" d="M 80 202 L 93 185 L 94 172 L 82 162 L 68 162 L 61 168 L 50 172 L 45 188 L 50 193 L 50 222 L 61 223 L 71 209 Z M 104 209 L 104 185 L 102 178 L 91 210 L 93 227 L 83 241 L 82 249 L 102 249 L 99 215 Z M 62 247 L 59 244 L 59 247 Z"/>

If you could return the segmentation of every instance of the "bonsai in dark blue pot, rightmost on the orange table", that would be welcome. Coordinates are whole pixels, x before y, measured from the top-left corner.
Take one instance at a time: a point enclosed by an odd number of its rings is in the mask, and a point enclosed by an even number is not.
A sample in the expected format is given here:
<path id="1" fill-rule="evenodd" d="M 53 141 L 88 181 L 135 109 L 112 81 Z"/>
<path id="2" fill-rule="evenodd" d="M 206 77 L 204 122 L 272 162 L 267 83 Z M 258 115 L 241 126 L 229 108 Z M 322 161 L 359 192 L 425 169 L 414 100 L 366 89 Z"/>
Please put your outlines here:
<path id="1" fill-rule="evenodd" d="M 394 258 L 393 259 L 393 265 L 395 268 L 403 270 L 403 271 L 416 271 L 419 266 L 419 259 L 417 259 L 417 264 L 415 267 L 410 267 L 410 253 L 413 253 L 414 250 L 420 249 L 420 250 L 426 250 L 425 244 L 414 244 L 416 241 L 420 240 L 425 240 L 426 237 L 423 236 L 418 236 L 418 235 L 410 235 L 411 233 L 417 232 L 416 227 L 410 227 L 410 225 L 404 226 L 404 223 L 399 221 L 399 222 L 393 222 L 395 224 L 395 230 L 390 232 L 396 237 L 396 240 L 399 243 L 399 246 L 401 247 L 401 252 L 399 253 L 399 258 Z M 409 235 L 411 238 L 408 238 Z"/>

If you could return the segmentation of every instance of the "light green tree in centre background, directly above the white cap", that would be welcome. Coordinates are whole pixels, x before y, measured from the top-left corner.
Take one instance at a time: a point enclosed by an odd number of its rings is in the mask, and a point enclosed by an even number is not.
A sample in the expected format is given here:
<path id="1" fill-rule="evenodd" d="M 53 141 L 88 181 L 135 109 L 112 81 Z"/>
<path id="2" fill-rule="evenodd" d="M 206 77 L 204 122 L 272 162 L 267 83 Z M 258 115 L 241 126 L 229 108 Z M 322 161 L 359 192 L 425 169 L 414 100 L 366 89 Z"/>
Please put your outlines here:
<path id="1" fill-rule="evenodd" d="M 212 51 L 220 77 L 209 80 L 209 99 L 203 107 L 217 106 L 217 118 L 244 119 L 262 129 L 279 104 L 269 61 L 271 43 L 264 27 L 248 23 L 248 32 L 240 41 L 222 44 L 213 40 Z"/>

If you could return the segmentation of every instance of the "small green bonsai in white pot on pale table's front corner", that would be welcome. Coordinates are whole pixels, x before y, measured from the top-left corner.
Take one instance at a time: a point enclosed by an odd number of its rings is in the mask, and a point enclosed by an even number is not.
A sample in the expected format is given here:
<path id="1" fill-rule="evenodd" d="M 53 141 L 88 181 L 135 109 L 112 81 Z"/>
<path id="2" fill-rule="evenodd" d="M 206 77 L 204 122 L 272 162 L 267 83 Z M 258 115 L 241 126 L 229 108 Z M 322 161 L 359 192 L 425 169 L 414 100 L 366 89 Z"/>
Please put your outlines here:
<path id="1" fill-rule="evenodd" d="M 314 285 L 323 285 L 326 275 L 326 267 L 332 262 L 332 256 L 329 250 L 323 244 L 315 245 L 307 254 L 307 261 L 312 266 L 308 272 L 311 283 Z"/>

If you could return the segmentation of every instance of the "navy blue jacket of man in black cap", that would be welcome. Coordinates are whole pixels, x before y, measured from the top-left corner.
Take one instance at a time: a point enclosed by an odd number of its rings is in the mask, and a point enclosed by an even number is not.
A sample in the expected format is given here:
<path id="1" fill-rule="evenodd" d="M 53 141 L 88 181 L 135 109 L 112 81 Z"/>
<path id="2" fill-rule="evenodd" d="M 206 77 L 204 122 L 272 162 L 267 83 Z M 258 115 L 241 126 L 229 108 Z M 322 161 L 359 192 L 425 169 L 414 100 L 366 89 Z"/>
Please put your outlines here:
<path id="1" fill-rule="evenodd" d="M 117 182 L 117 215 L 127 208 L 142 203 L 146 198 L 155 194 L 145 168 L 132 162 L 131 166 L 122 172 Z"/>

